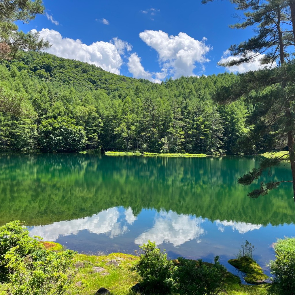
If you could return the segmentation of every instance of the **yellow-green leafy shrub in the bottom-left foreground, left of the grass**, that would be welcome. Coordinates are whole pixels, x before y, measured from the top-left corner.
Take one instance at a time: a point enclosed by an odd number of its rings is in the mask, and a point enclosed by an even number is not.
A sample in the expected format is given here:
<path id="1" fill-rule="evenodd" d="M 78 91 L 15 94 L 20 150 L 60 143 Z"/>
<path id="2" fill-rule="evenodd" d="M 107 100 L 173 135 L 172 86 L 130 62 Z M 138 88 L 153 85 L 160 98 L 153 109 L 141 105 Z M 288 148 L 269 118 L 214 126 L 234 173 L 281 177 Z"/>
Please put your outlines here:
<path id="1" fill-rule="evenodd" d="M 8 294 L 62 295 L 68 291 L 74 278 L 74 251 L 37 250 L 22 257 L 15 250 L 4 257 L 9 270 Z"/>

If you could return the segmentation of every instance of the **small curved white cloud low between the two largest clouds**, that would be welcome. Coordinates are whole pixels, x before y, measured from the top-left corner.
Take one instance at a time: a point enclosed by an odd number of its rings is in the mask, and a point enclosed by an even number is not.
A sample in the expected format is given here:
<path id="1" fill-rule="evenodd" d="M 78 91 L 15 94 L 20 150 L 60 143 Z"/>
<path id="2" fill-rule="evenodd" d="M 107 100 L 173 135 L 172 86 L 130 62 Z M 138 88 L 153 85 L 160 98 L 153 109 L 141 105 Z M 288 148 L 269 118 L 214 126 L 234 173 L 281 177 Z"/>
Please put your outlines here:
<path id="1" fill-rule="evenodd" d="M 128 70 L 130 73 L 132 73 L 134 78 L 143 78 L 155 83 L 161 83 L 160 73 L 150 73 L 149 71 L 145 71 L 141 64 L 141 59 L 138 57 L 137 53 L 132 53 L 128 58 Z M 153 76 L 156 76 L 156 78 L 153 78 Z M 163 78 L 165 76 L 166 74 L 164 74 Z"/>

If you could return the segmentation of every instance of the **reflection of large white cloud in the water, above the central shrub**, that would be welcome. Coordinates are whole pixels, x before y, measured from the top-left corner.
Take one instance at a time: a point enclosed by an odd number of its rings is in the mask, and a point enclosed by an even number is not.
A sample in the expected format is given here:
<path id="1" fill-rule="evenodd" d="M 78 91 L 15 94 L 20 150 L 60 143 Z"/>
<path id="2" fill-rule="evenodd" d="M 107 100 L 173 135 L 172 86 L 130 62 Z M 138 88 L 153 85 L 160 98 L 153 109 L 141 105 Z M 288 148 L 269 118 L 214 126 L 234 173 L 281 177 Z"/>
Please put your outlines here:
<path id="1" fill-rule="evenodd" d="M 154 226 L 135 239 L 135 244 L 142 245 L 147 240 L 155 241 L 157 245 L 163 242 L 172 243 L 173 246 L 197 239 L 204 235 L 205 231 L 200 226 L 202 218 L 196 218 L 187 214 L 176 212 L 160 212 L 155 218 Z"/>

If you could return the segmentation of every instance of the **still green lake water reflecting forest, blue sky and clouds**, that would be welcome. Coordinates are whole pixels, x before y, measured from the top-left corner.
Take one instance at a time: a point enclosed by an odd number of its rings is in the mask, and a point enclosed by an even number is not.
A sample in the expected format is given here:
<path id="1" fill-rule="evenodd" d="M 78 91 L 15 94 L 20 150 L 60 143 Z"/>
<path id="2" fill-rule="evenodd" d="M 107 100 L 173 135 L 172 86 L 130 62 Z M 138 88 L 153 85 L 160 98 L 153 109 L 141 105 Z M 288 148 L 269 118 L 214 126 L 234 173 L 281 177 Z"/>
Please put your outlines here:
<path id="1" fill-rule="evenodd" d="M 295 236 L 295 205 L 289 183 L 255 200 L 255 186 L 237 184 L 259 160 L 2 153 L 0 225 L 22 220 L 31 235 L 93 254 L 132 254 L 152 240 L 170 258 L 220 255 L 230 271 L 248 240 L 269 274 L 271 244 Z M 291 169 L 273 176 L 289 180 Z"/>

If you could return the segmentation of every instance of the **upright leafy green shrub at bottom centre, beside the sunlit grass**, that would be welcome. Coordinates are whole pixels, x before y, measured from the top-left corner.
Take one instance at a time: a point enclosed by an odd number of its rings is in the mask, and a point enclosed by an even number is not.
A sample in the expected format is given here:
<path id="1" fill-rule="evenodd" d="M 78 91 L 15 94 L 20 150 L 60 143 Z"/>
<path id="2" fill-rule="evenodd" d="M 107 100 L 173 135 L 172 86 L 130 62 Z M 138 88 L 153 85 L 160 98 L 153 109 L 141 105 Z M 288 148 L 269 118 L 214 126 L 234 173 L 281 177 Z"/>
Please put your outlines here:
<path id="1" fill-rule="evenodd" d="M 157 248 L 155 242 L 150 240 L 140 248 L 143 254 L 140 255 L 137 268 L 142 277 L 140 285 L 144 292 L 162 294 L 171 292 L 173 264 L 170 260 L 167 260 L 167 254 Z"/>

